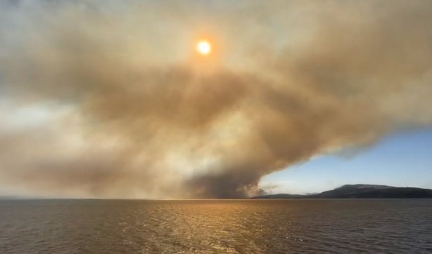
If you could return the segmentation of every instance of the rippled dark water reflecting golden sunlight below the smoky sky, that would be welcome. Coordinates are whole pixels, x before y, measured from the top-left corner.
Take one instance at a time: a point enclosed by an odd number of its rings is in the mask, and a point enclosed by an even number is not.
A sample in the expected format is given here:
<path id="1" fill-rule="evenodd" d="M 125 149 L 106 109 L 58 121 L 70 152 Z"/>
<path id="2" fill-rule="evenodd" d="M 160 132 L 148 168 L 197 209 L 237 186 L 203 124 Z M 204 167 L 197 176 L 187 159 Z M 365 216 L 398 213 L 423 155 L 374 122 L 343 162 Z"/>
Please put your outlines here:
<path id="1" fill-rule="evenodd" d="M 432 253 L 432 200 L 0 201 L 0 253 Z"/>

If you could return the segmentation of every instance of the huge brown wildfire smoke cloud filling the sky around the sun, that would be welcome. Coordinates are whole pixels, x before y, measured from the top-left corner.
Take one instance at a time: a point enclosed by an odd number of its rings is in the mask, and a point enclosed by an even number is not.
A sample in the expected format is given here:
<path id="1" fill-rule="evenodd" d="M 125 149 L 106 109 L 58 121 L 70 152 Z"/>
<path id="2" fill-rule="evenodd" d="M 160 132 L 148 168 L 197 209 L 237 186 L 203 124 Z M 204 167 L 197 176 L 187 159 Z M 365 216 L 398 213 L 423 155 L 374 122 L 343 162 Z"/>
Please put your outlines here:
<path id="1" fill-rule="evenodd" d="M 430 1 L 0 8 L 0 181 L 22 194 L 245 197 L 432 123 Z"/>

